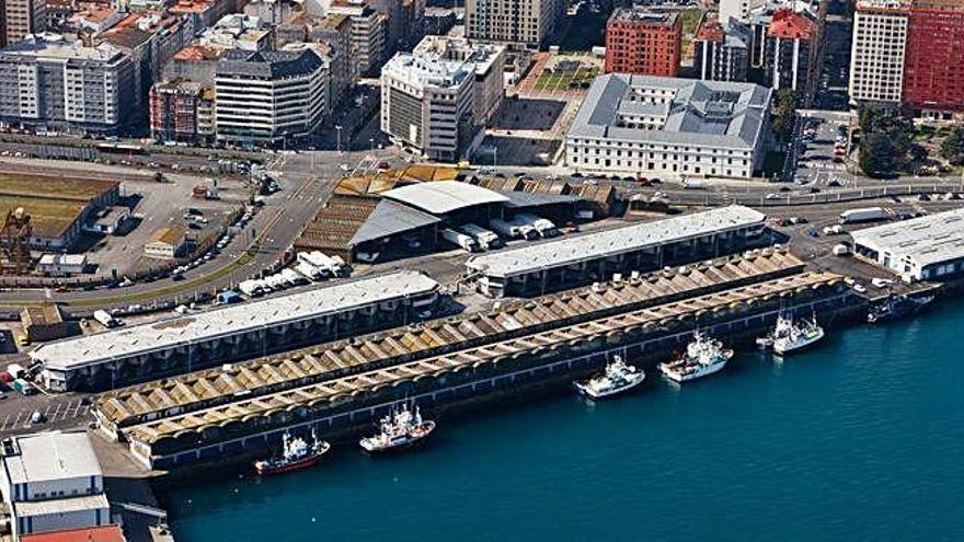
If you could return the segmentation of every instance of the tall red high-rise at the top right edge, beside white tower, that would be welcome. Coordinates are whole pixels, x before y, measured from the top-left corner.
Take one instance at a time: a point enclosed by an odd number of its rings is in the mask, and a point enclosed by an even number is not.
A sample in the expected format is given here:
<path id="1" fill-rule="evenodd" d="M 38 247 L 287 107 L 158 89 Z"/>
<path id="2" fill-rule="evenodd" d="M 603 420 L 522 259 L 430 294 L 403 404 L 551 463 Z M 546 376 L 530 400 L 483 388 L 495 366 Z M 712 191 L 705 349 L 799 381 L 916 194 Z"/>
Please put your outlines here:
<path id="1" fill-rule="evenodd" d="M 904 101 L 930 114 L 964 112 L 964 2 L 915 0 L 907 32 Z"/>

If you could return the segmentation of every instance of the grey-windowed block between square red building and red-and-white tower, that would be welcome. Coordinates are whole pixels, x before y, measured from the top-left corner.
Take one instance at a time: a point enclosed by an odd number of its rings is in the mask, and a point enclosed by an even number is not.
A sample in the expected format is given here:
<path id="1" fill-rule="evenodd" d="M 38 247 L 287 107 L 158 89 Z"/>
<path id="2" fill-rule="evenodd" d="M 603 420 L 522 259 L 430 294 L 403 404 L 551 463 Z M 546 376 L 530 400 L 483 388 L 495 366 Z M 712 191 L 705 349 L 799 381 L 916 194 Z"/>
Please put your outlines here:
<path id="1" fill-rule="evenodd" d="M 735 19 L 720 22 L 705 15 L 693 37 L 693 67 L 707 81 L 746 81 L 753 35 Z"/>

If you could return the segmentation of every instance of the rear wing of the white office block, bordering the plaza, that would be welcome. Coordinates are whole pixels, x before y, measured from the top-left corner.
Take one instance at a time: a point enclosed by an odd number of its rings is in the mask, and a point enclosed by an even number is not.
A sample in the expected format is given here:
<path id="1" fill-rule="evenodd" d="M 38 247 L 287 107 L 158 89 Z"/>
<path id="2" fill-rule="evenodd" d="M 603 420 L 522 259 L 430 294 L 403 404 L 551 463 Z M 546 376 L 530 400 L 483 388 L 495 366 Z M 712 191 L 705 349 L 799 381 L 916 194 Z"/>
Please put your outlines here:
<path id="1" fill-rule="evenodd" d="M 471 43 L 464 38 L 428 35 L 412 50 L 414 56 L 436 55 L 446 60 L 474 65 L 472 117 L 486 124 L 505 97 L 505 46 Z"/>

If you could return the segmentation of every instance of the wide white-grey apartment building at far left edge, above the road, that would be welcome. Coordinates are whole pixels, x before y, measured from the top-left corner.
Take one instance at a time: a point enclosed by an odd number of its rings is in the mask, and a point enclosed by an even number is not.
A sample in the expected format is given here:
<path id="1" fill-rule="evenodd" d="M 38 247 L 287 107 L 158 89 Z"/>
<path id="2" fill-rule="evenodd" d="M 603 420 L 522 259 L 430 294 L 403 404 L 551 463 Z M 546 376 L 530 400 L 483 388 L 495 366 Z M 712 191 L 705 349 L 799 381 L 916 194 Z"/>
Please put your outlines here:
<path id="1" fill-rule="evenodd" d="M 111 44 L 89 47 L 60 35 L 28 37 L 0 50 L 0 120 L 70 132 L 116 132 L 131 119 L 135 67 Z"/>

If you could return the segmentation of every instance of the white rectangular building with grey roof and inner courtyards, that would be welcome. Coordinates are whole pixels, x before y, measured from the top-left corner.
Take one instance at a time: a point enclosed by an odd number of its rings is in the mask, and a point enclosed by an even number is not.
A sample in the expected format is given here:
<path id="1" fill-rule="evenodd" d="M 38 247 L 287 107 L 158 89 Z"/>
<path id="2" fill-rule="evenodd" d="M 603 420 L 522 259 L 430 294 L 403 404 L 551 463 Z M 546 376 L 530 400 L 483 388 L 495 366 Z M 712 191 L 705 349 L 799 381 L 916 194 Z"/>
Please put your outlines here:
<path id="1" fill-rule="evenodd" d="M 596 79 L 566 134 L 566 165 L 647 178 L 750 178 L 762 168 L 770 89 L 610 73 Z"/>

